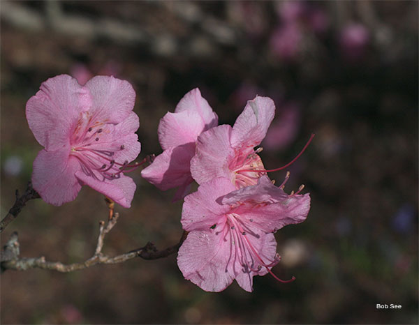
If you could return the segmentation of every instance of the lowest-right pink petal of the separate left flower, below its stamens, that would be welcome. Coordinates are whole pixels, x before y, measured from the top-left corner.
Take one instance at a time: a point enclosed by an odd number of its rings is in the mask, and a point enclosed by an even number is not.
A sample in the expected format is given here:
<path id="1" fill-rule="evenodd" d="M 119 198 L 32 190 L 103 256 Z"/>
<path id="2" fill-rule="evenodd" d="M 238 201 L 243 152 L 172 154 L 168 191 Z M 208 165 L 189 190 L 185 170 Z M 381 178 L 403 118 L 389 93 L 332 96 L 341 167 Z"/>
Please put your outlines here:
<path id="1" fill-rule="evenodd" d="M 75 176 L 85 185 L 90 186 L 94 190 L 106 195 L 117 204 L 124 206 L 124 208 L 131 207 L 131 201 L 134 197 L 135 183 L 131 177 L 119 174 L 119 179 L 94 179 L 87 176 L 84 172 L 79 171 Z"/>

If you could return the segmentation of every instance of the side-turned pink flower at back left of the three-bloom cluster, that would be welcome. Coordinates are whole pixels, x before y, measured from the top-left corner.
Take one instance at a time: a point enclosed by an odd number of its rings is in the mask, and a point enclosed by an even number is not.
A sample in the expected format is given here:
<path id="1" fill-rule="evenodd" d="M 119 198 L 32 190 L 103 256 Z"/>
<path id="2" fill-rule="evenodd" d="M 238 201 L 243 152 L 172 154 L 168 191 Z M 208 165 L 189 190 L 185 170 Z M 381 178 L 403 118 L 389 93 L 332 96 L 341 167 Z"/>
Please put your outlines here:
<path id="1" fill-rule="evenodd" d="M 196 139 L 218 124 L 218 116 L 198 88 L 186 93 L 174 113 L 168 112 L 159 123 L 159 142 L 163 153 L 141 176 L 160 190 L 178 188 L 174 200 L 182 199 L 193 182 L 190 163 L 195 155 Z"/>

